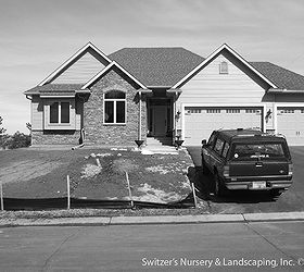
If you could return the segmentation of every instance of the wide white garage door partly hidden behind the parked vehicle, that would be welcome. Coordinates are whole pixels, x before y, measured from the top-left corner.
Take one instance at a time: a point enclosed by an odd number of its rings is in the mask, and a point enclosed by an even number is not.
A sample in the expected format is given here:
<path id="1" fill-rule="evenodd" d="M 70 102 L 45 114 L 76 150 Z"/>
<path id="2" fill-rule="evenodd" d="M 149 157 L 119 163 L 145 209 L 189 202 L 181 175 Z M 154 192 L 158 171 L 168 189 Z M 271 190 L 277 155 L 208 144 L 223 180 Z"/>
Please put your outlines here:
<path id="1" fill-rule="evenodd" d="M 214 129 L 259 128 L 262 129 L 263 108 L 185 108 L 185 145 L 200 146 L 208 139 Z"/>

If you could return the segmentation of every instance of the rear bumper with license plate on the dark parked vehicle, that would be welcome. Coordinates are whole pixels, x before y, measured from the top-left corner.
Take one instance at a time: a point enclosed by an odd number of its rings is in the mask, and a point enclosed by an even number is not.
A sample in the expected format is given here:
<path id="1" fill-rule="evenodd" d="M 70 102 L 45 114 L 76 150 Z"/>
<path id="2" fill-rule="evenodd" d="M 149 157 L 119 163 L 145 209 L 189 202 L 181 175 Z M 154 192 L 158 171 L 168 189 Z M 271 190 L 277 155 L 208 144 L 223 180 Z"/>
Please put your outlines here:
<path id="1" fill-rule="evenodd" d="M 254 182 L 266 182 L 266 187 L 256 189 L 253 188 Z M 228 189 L 249 189 L 249 190 L 270 190 L 270 189 L 288 189 L 292 184 L 292 181 L 248 181 L 248 182 L 229 182 L 225 183 Z"/>

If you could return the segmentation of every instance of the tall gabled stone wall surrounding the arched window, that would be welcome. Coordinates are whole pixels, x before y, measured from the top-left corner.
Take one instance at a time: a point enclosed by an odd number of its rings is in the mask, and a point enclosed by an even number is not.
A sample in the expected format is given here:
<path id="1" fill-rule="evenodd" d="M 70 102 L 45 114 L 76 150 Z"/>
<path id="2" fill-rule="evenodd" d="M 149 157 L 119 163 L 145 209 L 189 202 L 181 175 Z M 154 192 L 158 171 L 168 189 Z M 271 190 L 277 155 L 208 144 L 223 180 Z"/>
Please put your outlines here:
<path id="1" fill-rule="evenodd" d="M 103 94 L 109 90 L 126 92 L 127 116 L 125 125 L 103 124 Z M 91 87 L 91 95 L 84 104 L 85 144 L 135 146 L 138 139 L 139 102 L 136 86 L 121 71 L 109 71 Z M 147 107 L 142 101 L 142 139 L 147 138 Z"/>

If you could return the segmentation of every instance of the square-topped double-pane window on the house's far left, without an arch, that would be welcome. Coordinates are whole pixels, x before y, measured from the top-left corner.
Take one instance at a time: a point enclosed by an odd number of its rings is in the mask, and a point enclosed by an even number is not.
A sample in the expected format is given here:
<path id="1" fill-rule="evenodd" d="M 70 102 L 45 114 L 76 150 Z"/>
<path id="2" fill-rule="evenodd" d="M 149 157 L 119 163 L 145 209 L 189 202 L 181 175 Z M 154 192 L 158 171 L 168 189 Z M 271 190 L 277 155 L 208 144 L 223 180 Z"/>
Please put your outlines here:
<path id="1" fill-rule="evenodd" d="M 69 102 L 52 102 L 50 104 L 50 124 L 69 123 Z"/>

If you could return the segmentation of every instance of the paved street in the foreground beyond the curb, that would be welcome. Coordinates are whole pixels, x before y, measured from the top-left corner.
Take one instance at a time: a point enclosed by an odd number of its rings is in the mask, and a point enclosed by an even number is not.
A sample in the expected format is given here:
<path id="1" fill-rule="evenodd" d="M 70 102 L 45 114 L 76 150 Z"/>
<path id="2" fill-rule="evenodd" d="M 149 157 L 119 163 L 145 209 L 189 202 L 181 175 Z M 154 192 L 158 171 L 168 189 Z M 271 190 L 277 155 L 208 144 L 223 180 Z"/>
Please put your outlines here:
<path id="1" fill-rule="evenodd" d="M 0 271 L 303 271 L 304 222 L 0 228 Z"/>

